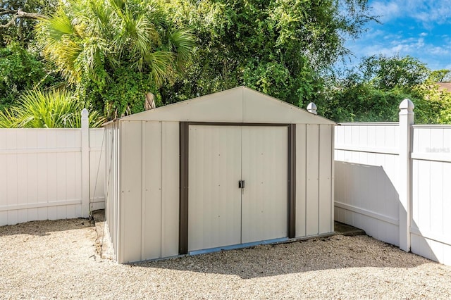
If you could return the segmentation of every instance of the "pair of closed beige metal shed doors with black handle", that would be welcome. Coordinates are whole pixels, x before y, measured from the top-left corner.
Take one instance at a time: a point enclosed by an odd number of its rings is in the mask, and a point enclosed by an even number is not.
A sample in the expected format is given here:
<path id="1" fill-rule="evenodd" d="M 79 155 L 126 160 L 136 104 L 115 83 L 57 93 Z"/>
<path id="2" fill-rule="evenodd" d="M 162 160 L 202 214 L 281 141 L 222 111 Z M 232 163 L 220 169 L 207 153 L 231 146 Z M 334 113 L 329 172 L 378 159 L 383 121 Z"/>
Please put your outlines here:
<path id="1" fill-rule="evenodd" d="M 190 125 L 188 156 L 188 251 L 288 236 L 288 127 Z"/>

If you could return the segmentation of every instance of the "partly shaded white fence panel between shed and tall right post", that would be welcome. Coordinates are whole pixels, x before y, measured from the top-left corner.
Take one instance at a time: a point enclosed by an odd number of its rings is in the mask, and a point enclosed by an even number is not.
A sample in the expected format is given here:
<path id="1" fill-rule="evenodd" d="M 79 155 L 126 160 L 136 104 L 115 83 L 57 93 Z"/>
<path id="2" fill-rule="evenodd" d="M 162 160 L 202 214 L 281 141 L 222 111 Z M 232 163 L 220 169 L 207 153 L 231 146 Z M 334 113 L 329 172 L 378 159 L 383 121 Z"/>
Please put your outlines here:
<path id="1" fill-rule="evenodd" d="M 397 123 L 335 127 L 335 220 L 399 245 Z"/>

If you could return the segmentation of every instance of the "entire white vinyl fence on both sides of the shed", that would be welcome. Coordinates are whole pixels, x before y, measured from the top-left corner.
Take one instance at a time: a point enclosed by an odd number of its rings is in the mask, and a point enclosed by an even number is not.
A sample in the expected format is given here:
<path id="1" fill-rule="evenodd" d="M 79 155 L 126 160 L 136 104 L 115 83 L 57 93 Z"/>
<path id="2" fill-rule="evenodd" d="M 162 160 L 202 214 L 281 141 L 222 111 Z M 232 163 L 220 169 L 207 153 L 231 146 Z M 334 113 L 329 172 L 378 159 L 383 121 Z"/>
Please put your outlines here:
<path id="1" fill-rule="evenodd" d="M 451 265 L 451 125 L 335 127 L 335 220 Z M 311 111 L 314 112 L 314 111 Z M 104 208 L 104 129 L 0 129 L 0 225 Z"/>

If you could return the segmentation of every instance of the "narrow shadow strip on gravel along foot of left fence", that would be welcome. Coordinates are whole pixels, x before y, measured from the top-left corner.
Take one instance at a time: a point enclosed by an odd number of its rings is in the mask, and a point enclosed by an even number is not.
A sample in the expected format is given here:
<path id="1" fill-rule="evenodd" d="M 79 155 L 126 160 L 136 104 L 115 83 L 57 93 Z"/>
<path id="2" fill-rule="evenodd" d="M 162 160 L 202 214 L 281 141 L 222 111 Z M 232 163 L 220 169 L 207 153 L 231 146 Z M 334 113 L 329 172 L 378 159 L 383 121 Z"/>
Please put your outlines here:
<path id="1" fill-rule="evenodd" d="M 16 225 L 0 226 L 0 237 L 6 235 L 49 235 L 49 232 L 75 230 L 89 227 L 89 220 L 84 218 L 68 220 L 30 221 Z"/>

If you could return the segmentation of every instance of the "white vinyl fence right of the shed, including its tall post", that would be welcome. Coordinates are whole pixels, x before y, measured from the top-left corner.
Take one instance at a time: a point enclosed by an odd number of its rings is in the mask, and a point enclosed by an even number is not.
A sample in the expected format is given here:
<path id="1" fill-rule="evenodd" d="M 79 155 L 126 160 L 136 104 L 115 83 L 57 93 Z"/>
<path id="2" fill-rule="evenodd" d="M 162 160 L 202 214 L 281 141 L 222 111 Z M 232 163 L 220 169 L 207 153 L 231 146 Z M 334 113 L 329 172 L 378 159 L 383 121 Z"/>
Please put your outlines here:
<path id="1" fill-rule="evenodd" d="M 335 220 L 451 265 L 451 126 L 406 104 L 400 123 L 335 127 Z"/>

